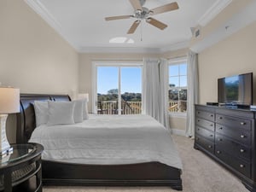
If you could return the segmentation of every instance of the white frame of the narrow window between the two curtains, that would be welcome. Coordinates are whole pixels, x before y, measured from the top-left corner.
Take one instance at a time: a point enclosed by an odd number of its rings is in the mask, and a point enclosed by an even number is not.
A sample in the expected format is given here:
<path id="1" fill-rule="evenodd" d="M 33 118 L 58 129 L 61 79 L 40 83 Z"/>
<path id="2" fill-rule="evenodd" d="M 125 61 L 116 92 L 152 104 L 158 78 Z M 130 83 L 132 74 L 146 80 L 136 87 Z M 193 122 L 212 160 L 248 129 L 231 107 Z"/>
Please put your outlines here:
<path id="1" fill-rule="evenodd" d="M 180 90 L 180 89 L 186 89 L 188 92 L 188 58 L 186 56 L 175 58 L 175 59 L 170 59 L 168 61 L 168 84 L 170 84 L 170 72 L 169 72 L 169 67 L 174 66 L 174 65 L 182 65 L 184 62 L 187 64 L 187 86 L 185 87 L 178 87 L 178 88 L 173 88 L 171 89 L 170 86 L 168 86 L 168 100 L 169 100 L 169 90 Z M 177 77 L 181 77 L 183 75 L 178 75 Z M 174 76 L 173 76 L 174 77 Z M 169 101 L 168 101 L 169 102 Z M 187 100 L 187 108 L 188 108 L 188 100 Z M 187 112 L 170 112 L 169 111 L 169 116 L 170 117 L 178 117 L 178 118 L 186 118 L 187 117 Z"/>

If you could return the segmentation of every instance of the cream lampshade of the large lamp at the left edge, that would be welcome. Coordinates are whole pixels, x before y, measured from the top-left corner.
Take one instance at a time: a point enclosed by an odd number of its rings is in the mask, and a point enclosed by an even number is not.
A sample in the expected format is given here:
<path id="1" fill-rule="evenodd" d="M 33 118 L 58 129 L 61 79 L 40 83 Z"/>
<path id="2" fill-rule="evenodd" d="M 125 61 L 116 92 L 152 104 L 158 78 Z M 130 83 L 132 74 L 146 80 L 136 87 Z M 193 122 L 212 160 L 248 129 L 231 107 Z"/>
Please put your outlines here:
<path id="1" fill-rule="evenodd" d="M 20 90 L 11 87 L 0 87 L 0 113 L 20 112 Z"/>

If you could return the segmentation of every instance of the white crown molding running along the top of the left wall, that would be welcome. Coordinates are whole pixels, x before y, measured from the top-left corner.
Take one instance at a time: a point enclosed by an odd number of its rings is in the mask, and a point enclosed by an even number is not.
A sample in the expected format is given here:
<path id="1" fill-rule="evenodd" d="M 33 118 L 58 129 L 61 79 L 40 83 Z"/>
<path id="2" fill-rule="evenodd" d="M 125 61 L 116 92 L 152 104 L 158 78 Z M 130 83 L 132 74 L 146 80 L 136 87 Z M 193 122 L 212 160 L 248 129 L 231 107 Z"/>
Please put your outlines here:
<path id="1" fill-rule="evenodd" d="M 25 0 L 25 3 L 28 4 L 41 18 L 43 18 L 49 26 L 55 29 L 55 32 L 61 35 L 68 44 L 72 45 L 74 49 L 78 50 L 78 47 L 68 40 L 66 35 L 62 32 L 61 24 L 55 20 L 55 17 L 49 13 L 49 11 L 44 7 L 39 0 Z"/>

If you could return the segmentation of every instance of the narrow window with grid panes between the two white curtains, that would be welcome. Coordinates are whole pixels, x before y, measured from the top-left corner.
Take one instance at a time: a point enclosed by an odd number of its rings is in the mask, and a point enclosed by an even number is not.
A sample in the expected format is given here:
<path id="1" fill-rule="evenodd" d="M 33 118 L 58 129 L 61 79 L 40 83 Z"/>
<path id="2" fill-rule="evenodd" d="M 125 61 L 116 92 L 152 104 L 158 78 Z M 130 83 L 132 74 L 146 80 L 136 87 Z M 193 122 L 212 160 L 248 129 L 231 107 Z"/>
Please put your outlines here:
<path id="1" fill-rule="evenodd" d="M 187 112 L 187 60 L 169 62 L 169 111 Z"/>

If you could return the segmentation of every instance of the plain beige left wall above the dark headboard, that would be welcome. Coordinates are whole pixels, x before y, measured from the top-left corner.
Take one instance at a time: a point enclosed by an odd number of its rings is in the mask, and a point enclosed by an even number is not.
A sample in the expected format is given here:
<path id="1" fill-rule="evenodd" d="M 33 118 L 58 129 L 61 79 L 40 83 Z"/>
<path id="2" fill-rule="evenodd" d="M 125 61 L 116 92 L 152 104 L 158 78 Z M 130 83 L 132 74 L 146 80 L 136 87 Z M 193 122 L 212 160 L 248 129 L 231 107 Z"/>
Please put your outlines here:
<path id="1" fill-rule="evenodd" d="M 1 83 L 21 93 L 73 95 L 78 90 L 78 66 L 75 49 L 24 1 L 0 1 Z M 7 132 L 15 142 L 15 118 L 9 118 Z"/>

